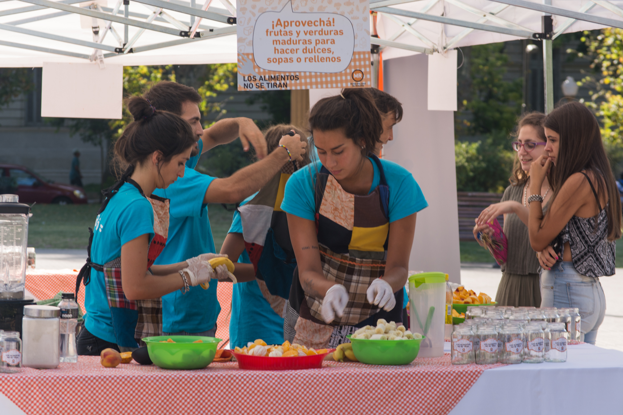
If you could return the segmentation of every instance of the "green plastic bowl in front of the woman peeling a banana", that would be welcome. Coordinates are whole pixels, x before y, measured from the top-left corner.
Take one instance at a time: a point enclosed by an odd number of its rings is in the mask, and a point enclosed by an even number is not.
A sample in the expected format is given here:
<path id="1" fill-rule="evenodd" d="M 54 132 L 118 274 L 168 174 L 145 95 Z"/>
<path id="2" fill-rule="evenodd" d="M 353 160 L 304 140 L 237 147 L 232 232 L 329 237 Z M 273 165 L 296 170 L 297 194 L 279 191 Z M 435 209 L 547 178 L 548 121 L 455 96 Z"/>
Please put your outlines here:
<path id="1" fill-rule="evenodd" d="M 170 338 L 175 343 L 164 342 Z M 193 343 L 202 340 L 203 343 Z M 204 336 L 145 337 L 151 361 L 163 369 L 202 369 L 212 363 L 220 338 Z"/>

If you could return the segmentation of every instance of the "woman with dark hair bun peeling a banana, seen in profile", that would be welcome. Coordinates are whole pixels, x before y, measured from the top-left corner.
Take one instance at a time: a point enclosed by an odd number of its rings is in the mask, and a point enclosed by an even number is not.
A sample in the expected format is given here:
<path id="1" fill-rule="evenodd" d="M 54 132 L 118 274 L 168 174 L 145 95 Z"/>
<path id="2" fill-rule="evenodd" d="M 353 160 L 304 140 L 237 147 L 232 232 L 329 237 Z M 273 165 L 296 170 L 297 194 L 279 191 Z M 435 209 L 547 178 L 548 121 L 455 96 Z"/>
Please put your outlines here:
<path id="1" fill-rule="evenodd" d="M 87 263 L 76 281 L 76 294 L 84 282 L 87 310 L 77 339 L 79 355 L 137 348 L 141 300 L 188 291 L 226 272 L 207 263 L 214 254 L 153 266 L 166 244 L 169 200 L 151 193 L 184 176 L 196 136 L 184 119 L 155 110 L 145 98 L 130 98 L 128 110 L 134 121 L 115 143 L 115 158 L 125 172 L 106 190 L 95 227 L 89 228 Z"/>

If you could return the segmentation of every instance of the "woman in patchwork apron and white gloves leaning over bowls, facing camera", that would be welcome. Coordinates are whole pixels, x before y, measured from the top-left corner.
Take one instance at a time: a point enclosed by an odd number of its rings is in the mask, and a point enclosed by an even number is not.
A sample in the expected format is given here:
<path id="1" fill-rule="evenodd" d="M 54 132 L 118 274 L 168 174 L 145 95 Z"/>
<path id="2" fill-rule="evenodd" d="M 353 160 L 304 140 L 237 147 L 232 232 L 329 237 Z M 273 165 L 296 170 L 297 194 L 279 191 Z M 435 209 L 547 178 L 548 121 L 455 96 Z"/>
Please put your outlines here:
<path id="1" fill-rule="evenodd" d="M 297 259 L 283 330 L 326 348 L 378 319 L 402 322 L 416 212 L 428 204 L 411 173 L 374 156 L 383 124 L 369 91 L 318 101 L 309 125 L 320 161 L 290 177 L 281 204 Z"/>

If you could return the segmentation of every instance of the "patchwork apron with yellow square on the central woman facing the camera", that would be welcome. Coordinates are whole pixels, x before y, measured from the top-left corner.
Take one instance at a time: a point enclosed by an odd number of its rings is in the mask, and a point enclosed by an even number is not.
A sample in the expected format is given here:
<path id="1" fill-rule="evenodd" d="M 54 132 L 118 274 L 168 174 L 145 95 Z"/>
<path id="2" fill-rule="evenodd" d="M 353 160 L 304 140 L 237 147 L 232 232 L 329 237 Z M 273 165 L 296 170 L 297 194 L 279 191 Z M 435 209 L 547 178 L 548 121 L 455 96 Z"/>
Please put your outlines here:
<path id="1" fill-rule="evenodd" d="M 370 155 L 379 169 L 379 185 L 368 195 L 346 192 L 323 166 L 316 175 L 316 232 L 323 274 L 348 291 L 342 317 L 326 324 L 322 299 L 303 291 L 295 270 L 286 309 L 283 333 L 286 340 L 307 347 L 336 347 L 348 342 L 346 335 L 358 327 L 376 325 L 377 319 L 402 321 L 401 307 L 390 311 L 369 304 L 368 287 L 385 272 L 389 241 L 389 187 L 378 157 Z M 402 289 L 394 293 L 402 304 Z"/>

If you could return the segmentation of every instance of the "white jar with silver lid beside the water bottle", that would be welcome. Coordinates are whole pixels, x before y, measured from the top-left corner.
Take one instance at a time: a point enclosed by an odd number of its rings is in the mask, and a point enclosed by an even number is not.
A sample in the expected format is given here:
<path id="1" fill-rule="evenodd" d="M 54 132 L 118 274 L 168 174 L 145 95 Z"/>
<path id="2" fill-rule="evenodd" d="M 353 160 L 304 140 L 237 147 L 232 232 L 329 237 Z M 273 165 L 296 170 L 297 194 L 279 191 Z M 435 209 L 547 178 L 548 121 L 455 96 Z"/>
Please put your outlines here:
<path id="1" fill-rule="evenodd" d="M 22 366 L 37 369 L 59 366 L 59 322 L 59 307 L 24 305 Z"/>

